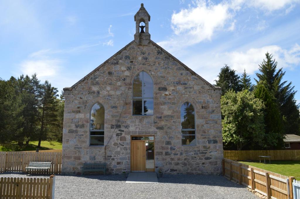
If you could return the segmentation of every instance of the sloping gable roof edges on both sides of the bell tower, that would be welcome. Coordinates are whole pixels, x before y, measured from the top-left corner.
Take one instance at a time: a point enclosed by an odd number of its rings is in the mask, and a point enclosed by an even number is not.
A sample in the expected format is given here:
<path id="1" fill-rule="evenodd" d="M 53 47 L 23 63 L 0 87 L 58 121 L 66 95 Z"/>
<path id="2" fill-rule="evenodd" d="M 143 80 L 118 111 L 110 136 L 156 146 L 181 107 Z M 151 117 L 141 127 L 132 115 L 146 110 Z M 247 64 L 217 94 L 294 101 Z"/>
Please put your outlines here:
<path id="1" fill-rule="evenodd" d="M 130 46 L 132 43 L 134 42 L 131 41 L 130 43 L 128 43 L 127 45 L 125 45 L 121 50 L 119 50 L 118 52 L 116 52 L 113 56 L 111 56 L 110 58 L 108 58 L 105 62 L 103 62 L 100 66 L 98 66 L 97 68 L 95 68 L 93 71 L 91 71 L 90 73 L 88 73 L 88 75 L 85 75 L 84 78 L 82 78 L 81 80 L 79 80 L 78 82 L 76 82 L 73 86 L 71 87 L 65 87 L 63 90 L 64 91 L 71 91 L 75 86 L 77 86 L 79 83 L 81 83 L 82 81 L 84 81 L 85 79 L 87 79 L 90 75 L 92 75 L 95 71 L 97 71 L 98 69 L 100 69 L 102 66 L 104 66 L 104 64 L 106 64 L 107 62 L 109 62 L 110 60 L 112 60 L 114 57 L 116 57 L 118 54 L 120 54 L 123 50 L 125 50 L 128 46 Z M 164 48 L 162 48 L 161 46 L 159 46 L 157 43 L 155 43 L 154 41 L 150 40 L 150 42 L 155 45 L 158 49 L 160 49 L 161 51 L 163 51 L 164 53 L 166 53 L 167 55 L 169 55 L 171 58 L 173 58 L 174 60 L 176 60 L 179 64 L 181 64 L 187 71 L 189 71 L 192 75 L 195 75 L 196 77 L 198 77 L 199 79 L 201 79 L 202 81 L 204 81 L 208 86 L 210 86 L 212 89 L 214 90 L 221 90 L 221 87 L 219 86 L 213 86 L 211 83 L 209 83 L 208 81 L 206 81 L 204 78 L 202 78 L 200 75 L 198 75 L 196 72 L 194 72 L 192 69 L 190 69 L 189 67 L 187 67 L 184 63 L 182 63 L 181 61 L 179 61 L 176 57 L 174 57 L 172 54 L 170 54 L 168 51 L 166 51 Z"/>

